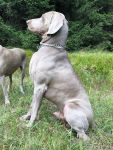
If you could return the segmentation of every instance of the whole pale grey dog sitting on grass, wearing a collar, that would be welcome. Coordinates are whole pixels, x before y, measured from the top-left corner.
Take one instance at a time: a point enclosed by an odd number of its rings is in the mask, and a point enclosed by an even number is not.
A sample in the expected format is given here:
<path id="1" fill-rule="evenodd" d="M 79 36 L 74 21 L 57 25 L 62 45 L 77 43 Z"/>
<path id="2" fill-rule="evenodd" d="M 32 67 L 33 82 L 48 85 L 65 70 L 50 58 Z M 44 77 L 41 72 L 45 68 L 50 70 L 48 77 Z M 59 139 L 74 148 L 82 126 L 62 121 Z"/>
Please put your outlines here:
<path id="1" fill-rule="evenodd" d="M 67 20 L 63 14 L 51 11 L 40 18 L 28 20 L 27 24 L 30 31 L 42 36 L 42 41 L 29 66 L 34 83 L 33 100 L 28 113 L 20 119 L 30 119 L 27 126 L 31 127 L 44 96 L 57 105 L 59 111 L 54 115 L 65 119 L 79 138 L 87 140 L 85 132 L 92 125 L 93 112 L 88 96 L 65 51 Z"/>

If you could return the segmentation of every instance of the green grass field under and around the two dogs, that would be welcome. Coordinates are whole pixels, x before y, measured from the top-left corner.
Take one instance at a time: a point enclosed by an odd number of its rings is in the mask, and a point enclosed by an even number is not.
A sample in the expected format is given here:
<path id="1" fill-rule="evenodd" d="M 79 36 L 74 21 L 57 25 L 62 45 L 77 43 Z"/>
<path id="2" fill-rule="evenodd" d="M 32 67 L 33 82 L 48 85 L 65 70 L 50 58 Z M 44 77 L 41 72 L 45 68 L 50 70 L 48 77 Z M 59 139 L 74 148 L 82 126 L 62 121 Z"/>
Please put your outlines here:
<path id="1" fill-rule="evenodd" d="M 27 52 L 28 62 L 31 53 Z M 25 95 L 19 90 L 19 71 L 13 76 L 11 105 L 4 106 L 0 89 L 0 150 L 112 150 L 113 149 L 113 54 L 79 52 L 69 54 L 74 70 L 84 84 L 94 110 L 95 130 L 89 130 L 89 142 L 76 138 L 71 129 L 53 117 L 57 108 L 43 99 L 40 119 L 31 129 L 23 127 L 19 117 L 27 112 L 33 84 L 26 69 Z"/>

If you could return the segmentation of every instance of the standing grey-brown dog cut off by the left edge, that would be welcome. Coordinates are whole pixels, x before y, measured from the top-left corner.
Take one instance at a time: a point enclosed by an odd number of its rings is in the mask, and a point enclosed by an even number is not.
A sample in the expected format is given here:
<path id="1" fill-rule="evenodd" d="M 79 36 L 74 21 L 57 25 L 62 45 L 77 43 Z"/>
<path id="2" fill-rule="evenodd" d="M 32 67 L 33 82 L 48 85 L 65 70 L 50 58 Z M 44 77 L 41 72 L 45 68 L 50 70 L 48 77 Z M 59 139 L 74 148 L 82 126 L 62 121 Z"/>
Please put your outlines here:
<path id="1" fill-rule="evenodd" d="M 0 45 L 0 84 L 2 85 L 5 104 L 10 104 L 8 98 L 8 91 L 12 85 L 12 74 L 18 69 L 21 69 L 21 92 L 24 93 L 23 90 L 23 79 L 25 76 L 25 64 L 26 64 L 26 54 L 24 50 L 20 48 L 7 49 Z M 10 85 L 8 87 L 6 83 L 6 76 L 9 76 Z"/>

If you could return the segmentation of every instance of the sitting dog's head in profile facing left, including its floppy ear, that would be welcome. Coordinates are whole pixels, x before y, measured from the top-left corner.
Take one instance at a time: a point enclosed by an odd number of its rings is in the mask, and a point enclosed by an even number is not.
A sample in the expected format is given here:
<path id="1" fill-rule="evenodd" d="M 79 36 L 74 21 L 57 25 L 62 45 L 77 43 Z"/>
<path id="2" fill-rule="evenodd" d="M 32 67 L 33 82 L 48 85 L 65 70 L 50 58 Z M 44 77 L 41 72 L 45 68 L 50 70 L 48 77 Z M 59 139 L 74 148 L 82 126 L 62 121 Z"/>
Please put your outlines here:
<path id="1" fill-rule="evenodd" d="M 40 18 L 27 21 L 28 29 L 34 33 L 44 35 L 53 35 L 57 33 L 66 21 L 61 13 L 50 11 L 43 14 Z"/>

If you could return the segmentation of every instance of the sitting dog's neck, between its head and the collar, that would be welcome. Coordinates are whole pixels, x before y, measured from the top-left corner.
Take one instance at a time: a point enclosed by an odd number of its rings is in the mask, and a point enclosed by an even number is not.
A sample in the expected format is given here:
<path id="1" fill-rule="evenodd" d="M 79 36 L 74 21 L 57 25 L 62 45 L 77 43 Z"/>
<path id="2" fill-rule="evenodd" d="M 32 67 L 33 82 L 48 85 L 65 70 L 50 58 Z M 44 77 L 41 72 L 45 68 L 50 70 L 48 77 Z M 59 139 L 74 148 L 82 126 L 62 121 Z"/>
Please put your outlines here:
<path id="1" fill-rule="evenodd" d="M 40 44 L 55 48 L 65 48 L 67 36 L 68 36 L 68 26 L 67 23 L 64 22 L 64 25 L 56 34 L 43 37 Z"/>

